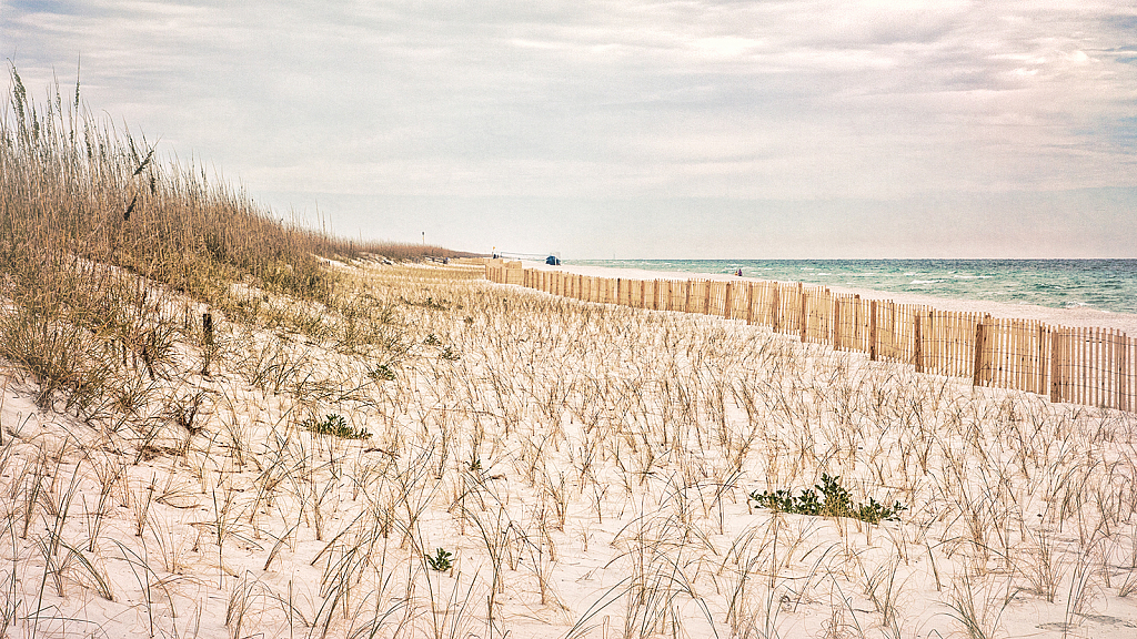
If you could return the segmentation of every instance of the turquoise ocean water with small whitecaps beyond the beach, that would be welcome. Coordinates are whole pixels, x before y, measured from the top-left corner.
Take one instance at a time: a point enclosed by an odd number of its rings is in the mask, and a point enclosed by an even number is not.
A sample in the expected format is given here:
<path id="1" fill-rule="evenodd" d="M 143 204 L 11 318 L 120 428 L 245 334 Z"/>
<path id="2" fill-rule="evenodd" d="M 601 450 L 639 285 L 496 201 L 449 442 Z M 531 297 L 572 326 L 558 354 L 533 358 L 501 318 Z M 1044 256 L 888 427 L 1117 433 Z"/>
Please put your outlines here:
<path id="1" fill-rule="evenodd" d="M 1137 314 L 1137 259 L 566 259 L 940 298 Z"/>

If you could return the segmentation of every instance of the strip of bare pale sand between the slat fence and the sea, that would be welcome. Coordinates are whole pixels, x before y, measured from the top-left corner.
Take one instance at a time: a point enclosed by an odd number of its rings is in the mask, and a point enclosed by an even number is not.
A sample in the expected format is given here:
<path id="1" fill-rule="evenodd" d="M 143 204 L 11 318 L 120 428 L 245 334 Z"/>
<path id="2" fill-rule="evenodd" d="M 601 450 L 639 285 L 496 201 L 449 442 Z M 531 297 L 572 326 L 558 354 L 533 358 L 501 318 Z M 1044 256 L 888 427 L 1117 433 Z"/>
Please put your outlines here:
<path id="1" fill-rule="evenodd" d="M 648 271 L 644 268 L 612 268 L 607 266 L 562 265 L 549 266 L 542 262 L 520 260 L 524 268 L 539 271 L 559 271 L 575 275 L 594 277 L 624 277 L 629 280 L 712 280 L 716 282 L 766 282 L 787 280 L 763 280 L 761 277 L 738 277 L 722 273 L 690 273 L 686 271 Z M 827 288 L 820 284 L 807 287 Z M 1137 314 L 1113 313 L 1096 308 L 1053 308 L 1032 304 L 1006 304 L 979 299 L 960 299 L 926 296 L 919 293 L 901 293 L 857 289 L 848 287 L 828 287 L 839 293 L 858 294 L 863 299 L 890 300 L 899 304 L 921 304 L 937 310 L 954 310 L 968 313 L 986 313 L 991 317 L 1004 320 L 1035 320 L 1054 326 L 1114 329 L 1128 335 L 1137 334 Z"/>

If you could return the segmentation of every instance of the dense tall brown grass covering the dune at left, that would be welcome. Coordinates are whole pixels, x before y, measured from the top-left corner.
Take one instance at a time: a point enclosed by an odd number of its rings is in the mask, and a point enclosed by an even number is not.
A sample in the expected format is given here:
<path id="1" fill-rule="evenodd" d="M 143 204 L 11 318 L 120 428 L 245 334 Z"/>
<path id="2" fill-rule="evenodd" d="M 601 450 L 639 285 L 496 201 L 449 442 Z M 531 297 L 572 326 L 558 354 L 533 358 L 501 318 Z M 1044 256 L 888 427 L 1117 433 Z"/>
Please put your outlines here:
<path id="1" fill-rule="evenodd" d="M 96 118 L 77 83 L 73 99 L 57 86 L 36 103 L 15 67 L 10 75 L 0 119 L 0 273 L 15 312 L 0 320 L 0 355 L 40 381 L 43 405 L 97 412 L 109 388 L 130 385 L 127 360 L 160 375 L 179 339 L 202 337 L 201 312 L 248 318 L 263 306 L 235 285 L 366 320 L 329 258 L 458 255 L 285 223 L 209 181 L 205 167 L 164 161 L 144 135 Z M 268 321 L 298 330 L 313 322 L 296 313 Z"/>

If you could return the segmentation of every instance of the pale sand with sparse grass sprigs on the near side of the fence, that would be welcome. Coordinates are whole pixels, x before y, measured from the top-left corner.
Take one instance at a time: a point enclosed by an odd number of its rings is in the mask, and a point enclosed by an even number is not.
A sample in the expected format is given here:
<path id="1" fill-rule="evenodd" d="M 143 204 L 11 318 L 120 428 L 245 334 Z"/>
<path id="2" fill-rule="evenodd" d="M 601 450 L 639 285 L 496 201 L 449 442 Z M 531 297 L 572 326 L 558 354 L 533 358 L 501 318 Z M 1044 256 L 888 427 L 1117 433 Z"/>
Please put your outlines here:
<path id="1" fill-rule="evenodd" d="M 246 287 L 268 301 L 218 317 L 213 375 L 180 347 L 134 414 L 6 368 L 9 636 L 1134 636 L 1132 414 L 470 269 L 343 273 L 388 346 Z M 823 475 L 831 509 L 797 512 Z"/>

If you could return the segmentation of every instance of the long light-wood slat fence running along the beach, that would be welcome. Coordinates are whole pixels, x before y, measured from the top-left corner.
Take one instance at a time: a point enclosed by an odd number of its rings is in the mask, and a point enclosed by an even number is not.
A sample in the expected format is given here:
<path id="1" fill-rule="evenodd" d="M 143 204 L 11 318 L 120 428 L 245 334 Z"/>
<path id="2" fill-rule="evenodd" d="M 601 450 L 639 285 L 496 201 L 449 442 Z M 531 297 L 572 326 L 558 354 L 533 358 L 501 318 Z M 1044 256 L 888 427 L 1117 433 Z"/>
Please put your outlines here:
<path id="1" fill-rule="evenodd" d="M 598 304 L 740 320 L 920 373 L 970 377 L 977 387 L 1137 410 L 1137 339 L 1113 329 L 866 300 L 802 282 L 594 277 L 501 259 L 487 260 L 485 277 Z"/>

